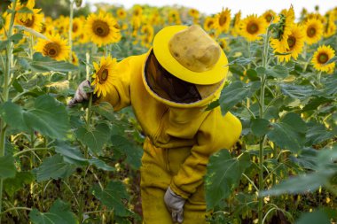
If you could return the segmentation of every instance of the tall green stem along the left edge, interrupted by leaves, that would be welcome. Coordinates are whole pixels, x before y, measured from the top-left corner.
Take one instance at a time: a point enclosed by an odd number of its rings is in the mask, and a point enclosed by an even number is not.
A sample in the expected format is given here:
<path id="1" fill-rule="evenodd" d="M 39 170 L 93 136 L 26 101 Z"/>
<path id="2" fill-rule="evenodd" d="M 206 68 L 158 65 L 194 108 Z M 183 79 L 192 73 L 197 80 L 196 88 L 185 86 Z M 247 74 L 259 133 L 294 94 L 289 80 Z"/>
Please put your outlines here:
<path id="1" fill-rule="evenodd" d="M 15 8 L 16 8 L 17 0 L 12 1 L 12 9 L 14 12 L 12 12 L 11 21 L 10 21 L 10 27 L 8 29 L 7 38 L 10 38 L 12 36 L 12 27 L 14 25 L 14 18 L 15 18 Z M 12 66 L 12 50 L 13 50 L 13 44 L 12 42 L 8 42 L 6 46 L 6 66 L 4 71 L 4 89 L 3 89 L 3 98 L 4 102 L 8 100 L 9 96 L 9 79 L 11 76 L 11 66 Z M 0 157 L 4 157 L 4 151 L 5 151 L 5 136 L 6 136 L 6 123 L 4 120 L 1 120 L 1 134 L 0 134 Z M 2 211 L 2 205 L 3 205 L 3 186 L 4 186 L 4 180 L 0 179 L 0 213 Z M 0 216 L 0 223 L 1 223 L 1 216 Z"/>

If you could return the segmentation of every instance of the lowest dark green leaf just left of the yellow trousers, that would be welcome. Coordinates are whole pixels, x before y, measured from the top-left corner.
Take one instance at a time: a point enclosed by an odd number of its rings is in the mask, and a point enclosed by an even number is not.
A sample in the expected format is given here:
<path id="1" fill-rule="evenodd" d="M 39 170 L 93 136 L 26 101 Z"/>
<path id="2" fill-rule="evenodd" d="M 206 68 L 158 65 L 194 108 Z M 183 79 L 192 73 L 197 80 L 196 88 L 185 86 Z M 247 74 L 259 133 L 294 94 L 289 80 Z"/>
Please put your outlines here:
<path id="1" fill-rule="evenodd" d="M 129 200 L 129 194 L 121 182 L 112 181 L 101 189 L 98 184 L 92 187 L 92 194 L 97 197 L 108 209 L 114 209 L 117 216 L 128 216 L 131 212 L 124 205 L 123 200 Z"/>

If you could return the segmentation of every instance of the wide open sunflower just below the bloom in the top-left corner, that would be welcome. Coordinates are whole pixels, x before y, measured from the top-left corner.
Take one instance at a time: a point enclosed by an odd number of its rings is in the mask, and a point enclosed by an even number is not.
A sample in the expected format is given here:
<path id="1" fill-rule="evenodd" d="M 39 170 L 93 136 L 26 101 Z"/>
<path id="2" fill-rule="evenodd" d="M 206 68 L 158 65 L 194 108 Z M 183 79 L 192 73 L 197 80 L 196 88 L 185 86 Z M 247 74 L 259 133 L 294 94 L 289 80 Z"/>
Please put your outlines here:
<path id="1" fill-rule="evenodd" d="M 49 56 L 55 60 L 66 60 L 69 58 L 69 46 L 67 41 L 59 35 L 47 35 L 48 40 L 40 39 L 35 50 L 41 52 L 43 56 Z"/>

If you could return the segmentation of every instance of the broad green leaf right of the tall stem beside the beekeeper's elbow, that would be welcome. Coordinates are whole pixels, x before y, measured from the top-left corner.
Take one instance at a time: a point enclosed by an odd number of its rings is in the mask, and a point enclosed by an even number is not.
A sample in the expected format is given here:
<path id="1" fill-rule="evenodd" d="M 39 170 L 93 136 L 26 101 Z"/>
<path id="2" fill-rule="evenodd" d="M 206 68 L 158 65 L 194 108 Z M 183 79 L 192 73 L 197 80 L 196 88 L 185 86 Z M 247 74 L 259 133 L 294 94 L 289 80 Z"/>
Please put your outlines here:
<path id="1" fill-rule="evenodd" d="M 289 151 L 302 150 L 307 127 L 298 114 L 289 112 L 280 122 L 270 123 L 270 125 L 267 136 L 272 142 Z"/>

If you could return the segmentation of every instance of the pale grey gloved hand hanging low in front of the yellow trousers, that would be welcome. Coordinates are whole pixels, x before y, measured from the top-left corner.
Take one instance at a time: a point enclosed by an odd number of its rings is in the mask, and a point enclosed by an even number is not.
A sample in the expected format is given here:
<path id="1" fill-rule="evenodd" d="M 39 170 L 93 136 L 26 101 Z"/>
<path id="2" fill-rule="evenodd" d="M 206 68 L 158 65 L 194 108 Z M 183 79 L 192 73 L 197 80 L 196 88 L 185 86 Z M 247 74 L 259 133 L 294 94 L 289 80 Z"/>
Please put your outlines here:
<path id="1" fill-rule="evenodd" d="M 184 220 L 184 203 L 186 202 L 186 199 L 176 195 L 176 193 L 169 187 L 166 190 L 164 201 L 169 212 L 171 212 L 172 220 L 174 222 L 177 221 L 182 223 Z"/>

